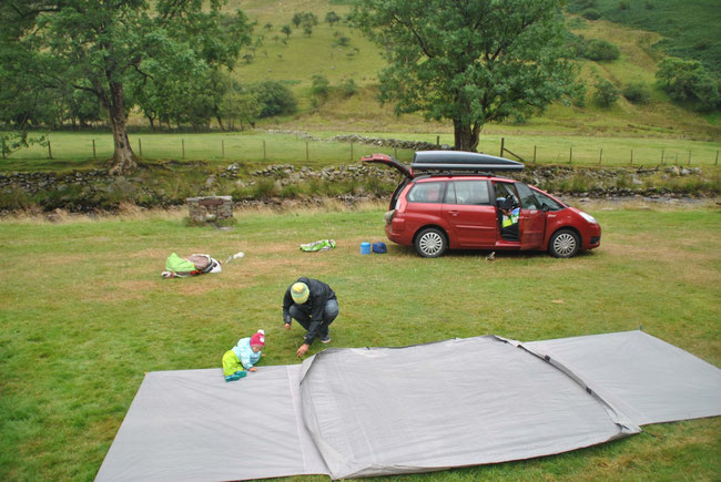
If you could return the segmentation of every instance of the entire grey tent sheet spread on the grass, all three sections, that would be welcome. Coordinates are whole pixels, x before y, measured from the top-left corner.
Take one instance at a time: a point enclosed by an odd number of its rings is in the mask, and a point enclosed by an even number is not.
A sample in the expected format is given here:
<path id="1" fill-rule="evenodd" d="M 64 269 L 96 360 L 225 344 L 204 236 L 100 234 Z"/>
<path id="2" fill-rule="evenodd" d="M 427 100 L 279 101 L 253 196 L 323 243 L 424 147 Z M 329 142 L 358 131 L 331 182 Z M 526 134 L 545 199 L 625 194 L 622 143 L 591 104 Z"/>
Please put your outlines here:
<path id="1" fill-rule="evenodd" d="M 97 480 L 424 472 L 719 414 L 721 370 L 641 331 L 328 349 L 233 383 L 148 373 Z"/>

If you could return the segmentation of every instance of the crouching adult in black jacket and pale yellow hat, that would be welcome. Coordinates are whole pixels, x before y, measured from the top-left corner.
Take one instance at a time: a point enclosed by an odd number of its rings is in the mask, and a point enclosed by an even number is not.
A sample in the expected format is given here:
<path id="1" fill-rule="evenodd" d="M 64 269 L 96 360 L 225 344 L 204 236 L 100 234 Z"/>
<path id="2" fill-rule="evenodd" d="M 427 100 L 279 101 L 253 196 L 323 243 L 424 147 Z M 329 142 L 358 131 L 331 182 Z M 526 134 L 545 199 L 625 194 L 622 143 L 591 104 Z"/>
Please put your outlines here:
<path id="1" fill-rule="evenodd" d="M 316 338 L 321 338 L 324 343 L 331 342 L 328 327 L 337 316 L 338 300 L 335 291 L 323 281 L 301 277 L 285 291 L 283 297 L 285 329 L 290 330 L 291 322 L 295 319 L 307 331 L 303 337 L 305 342 L 296 351 L 298 358 L 308 351 Z"/>

